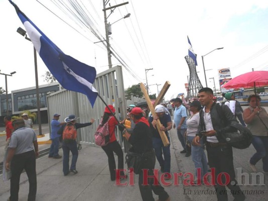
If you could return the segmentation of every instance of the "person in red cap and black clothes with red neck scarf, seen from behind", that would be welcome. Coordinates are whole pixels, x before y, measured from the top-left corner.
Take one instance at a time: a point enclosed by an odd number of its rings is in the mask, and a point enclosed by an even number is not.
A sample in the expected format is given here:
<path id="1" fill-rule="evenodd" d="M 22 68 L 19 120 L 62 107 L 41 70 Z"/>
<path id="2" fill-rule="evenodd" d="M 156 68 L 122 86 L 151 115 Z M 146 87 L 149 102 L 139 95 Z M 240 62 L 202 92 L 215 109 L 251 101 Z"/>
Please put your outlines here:
<path id="1" fill-rule="evenodd" d="M 142 169 L 148 169 L 149 175 L 154 175 L 154 165 L 155 165 L 155 153 L 152 145 L 152 125 L 148 120 L 143 116 L 143 110 L 141 108 L 135 107 L 129 114 L 130 118 L 136 124 L 133 130 L 133 133 L 125 133 L 125 137 L 128 142 L 132 145 L 130 152 L 138 153 L 142 155 L 141 170 L 139 172 L 139 188 L 143 201 L 154 201 L 152 191 L 158 195 L 158 200 L 160 201 L 169 201 L 170 197 L 164 188 L 160 185 L 157 180 L 157 176 L 154 178 L 147 178 L 147 185 L 144 185 L 144 178 Z M 145 173 L 146 174 L 146 173 Z M 157 182 L 157 185 L 154 183 Z"/>

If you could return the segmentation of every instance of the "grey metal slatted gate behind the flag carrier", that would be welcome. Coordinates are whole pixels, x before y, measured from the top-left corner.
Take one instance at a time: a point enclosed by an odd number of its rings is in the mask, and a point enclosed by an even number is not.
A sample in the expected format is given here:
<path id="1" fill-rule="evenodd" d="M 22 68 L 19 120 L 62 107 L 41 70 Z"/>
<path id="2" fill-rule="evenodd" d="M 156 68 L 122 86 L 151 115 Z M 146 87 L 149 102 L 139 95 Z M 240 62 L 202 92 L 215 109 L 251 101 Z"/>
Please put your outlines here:
<path id="1" fill-rule="evenodd" d="M 127 105 L 122 67 L 115 66 L 97 74 L 94 87 L 108 105 L 115 107 L 117 119 L 123 120 L 126 117 Z M 71 114 L 79 117 L 77 123 L 87 123 L 92 118 L 95 119 L 96 122 L 92 126 L 77 130 L 77 142 L 97 146 L 94 142 L 94 133 L 101 122 L 105 109 L 105 104 L 99 97 L 97 97 L 95 105 L 92 108 L 88 98 L 84 94 L 63 89 L 47 96 L 47 103 L 48 117 L 52 118 L 55 113 L 60 114 L 61 118 L 59 121 L 61 122 Z M 51 131 L 50 122 L 49 129 Z M 121 132 L 117 131 L 116 136 L 122 146 Z M 124 144 L 125 148 L 127 148 L 127 143 L 125 142 Z"/>

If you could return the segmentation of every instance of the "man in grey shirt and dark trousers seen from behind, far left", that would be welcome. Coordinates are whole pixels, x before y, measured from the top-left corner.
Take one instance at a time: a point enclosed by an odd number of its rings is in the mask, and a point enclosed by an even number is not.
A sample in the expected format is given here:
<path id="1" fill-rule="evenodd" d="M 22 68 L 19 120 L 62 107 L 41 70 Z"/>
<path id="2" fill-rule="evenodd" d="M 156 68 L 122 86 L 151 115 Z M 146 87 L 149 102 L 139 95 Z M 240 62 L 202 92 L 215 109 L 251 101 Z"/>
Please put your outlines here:
<path id="1" fill-rule="evenodd" d="M 23 119 L 12 122 L 14 132 L 8 147 L 6 169 L 11 170 L 10 198 L 18 200 L 20 176 L 25 169 L 29 179 L 28 201 L 35 200 L 37 190 L 36 157 L 38 156 L 37 137 L 33 129 L 26 128 Z"/>

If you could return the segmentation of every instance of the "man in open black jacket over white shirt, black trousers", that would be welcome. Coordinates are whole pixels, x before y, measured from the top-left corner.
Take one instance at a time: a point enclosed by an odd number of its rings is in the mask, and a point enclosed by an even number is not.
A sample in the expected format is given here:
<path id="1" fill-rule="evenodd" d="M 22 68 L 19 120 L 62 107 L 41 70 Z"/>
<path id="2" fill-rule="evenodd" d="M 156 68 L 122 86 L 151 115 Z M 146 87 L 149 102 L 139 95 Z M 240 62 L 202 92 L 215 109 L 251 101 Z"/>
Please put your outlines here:
<path id="1" fill-rule="evenodd" d="M 200 122 L 194 139 L 195 145 L 200 145 L 203 137 L 206 142 L 209 166 L 215 175 L 214 187 L 218 200 L 228 200 L 225 185 L 231 190 L 234 200 L 245 200 L 245 195 L 235 180 L 232 147 L 228 145 L 222 134 L 233 132 L 229 126 L 231 122 L 237 122 L 231 110 L 226 106 L 219 106 L 213 102 L 213 90 L 205 87 L 198 91 L 199 101 L 204 109 L 200 111 Z M 222 116 L 218 114 L 217 107 L 222 110 Z M 228 178 L 226 175 L 227 174 Z M 223 176 L 224 175 L 224 176 Z M 206 182 L 204 181 L 206 184 Z"/>

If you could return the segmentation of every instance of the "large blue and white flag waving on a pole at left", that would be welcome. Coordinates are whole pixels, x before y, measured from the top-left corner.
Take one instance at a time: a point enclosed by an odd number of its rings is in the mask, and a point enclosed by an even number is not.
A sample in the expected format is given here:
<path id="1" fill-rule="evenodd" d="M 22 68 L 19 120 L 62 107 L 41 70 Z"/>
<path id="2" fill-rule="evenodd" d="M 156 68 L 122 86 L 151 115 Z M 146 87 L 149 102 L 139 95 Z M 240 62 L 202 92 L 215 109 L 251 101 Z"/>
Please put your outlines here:
<path id="1" fill-rule="evenodd" d="M 15 7 L 36 51 L 52 75 L 64 88 L 85 94 L 93 107 L 98 96 L 98 91 L 93 87 L 96 69 L 64 54 L 16 4 L 9 1 Z"/>

